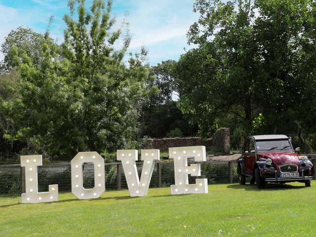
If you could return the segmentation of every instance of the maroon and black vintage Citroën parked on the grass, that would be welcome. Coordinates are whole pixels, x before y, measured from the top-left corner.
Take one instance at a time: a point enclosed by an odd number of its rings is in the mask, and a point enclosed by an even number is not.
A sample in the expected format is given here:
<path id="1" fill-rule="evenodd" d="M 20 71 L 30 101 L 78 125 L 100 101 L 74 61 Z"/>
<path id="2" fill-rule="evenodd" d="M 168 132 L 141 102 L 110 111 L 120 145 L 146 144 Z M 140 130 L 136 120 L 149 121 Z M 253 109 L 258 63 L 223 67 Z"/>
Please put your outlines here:
<path id="1" fill-rule="evenodd" d="M 312 162 L 305 156 L 299 158 L 285 135 L 249 136 L 237 165 L 239 183 L 245 184 L 246 177 L 251 177 L 250 184 L 256 182 L 259 189 L 268 182 L 298 181 L 310 187 L 314 172 Z"/>

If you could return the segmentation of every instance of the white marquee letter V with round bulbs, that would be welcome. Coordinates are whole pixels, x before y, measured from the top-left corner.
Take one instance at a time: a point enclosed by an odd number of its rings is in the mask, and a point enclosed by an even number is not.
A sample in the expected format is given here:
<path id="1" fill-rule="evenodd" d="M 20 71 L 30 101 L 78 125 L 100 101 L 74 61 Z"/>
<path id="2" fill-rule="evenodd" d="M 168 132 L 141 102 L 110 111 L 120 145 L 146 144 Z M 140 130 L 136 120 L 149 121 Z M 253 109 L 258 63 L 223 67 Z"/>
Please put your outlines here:
<path id="1" fill-rule="evenodd" d="M 141 160 L 144 161 L 140 182 L 135 160 L 138 159 L 137 150 L 118 150 L 117 159 L 122 161 L 122 166 L 131 197 L 147 195 L 152 178 L 155 160 L 160 159 L 159 150 L 142 150 Z"/>

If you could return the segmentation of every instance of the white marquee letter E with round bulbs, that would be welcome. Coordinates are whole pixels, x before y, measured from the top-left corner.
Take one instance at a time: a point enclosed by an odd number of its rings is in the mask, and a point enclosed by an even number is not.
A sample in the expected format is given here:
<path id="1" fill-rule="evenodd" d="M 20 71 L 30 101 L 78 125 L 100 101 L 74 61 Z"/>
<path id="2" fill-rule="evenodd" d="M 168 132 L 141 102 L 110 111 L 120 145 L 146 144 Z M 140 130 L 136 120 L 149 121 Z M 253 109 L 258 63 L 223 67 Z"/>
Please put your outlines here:
<path id="1" fill-rule="evenodd" d="M 204 146 L 169 148 L 169 158 L 174 160 L 175 185 L 171 185 L 171 194 L 207 194 L 207 179 L 196 179 L 196 184 L 189 184 L 189 176 L 200 176 L 200 164 L 188 166 L 188 158 L 206 161 Z"/>

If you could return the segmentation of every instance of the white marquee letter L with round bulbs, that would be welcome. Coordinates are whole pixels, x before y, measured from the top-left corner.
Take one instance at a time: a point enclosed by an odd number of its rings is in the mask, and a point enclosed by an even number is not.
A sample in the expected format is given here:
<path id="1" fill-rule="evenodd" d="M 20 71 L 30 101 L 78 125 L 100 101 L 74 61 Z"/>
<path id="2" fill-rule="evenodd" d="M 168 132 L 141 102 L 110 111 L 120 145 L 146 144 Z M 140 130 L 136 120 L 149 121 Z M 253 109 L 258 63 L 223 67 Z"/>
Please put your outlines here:
<path id="1" fill-rule="evenodd" d="M 48 192 L 38 193 L 38 166 L 42 166 L 41 155 L 21 156 L 21 167 L 25 167 L 25 194 L 22 203 L 58 201 L 58 185 L 49 185 Z"/>

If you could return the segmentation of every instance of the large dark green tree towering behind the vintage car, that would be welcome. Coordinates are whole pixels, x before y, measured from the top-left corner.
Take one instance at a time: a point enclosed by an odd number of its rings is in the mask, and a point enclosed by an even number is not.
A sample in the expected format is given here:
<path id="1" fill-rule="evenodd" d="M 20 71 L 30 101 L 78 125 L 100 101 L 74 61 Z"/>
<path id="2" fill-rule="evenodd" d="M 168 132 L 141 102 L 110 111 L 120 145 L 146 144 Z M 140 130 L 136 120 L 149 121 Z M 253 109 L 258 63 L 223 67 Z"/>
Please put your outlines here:
<path id="1" fill-rule="evenodd" d="M 227 114 L 242 118 L 246 133 L 262 114 L 264 133 L 297 134 L 303 90 L 313 85 L 307 75 L 315 72 L 315 67 L 301 70 L 308 64 L 302 60 L 304 44 L 315 50 L 310 14 L 315 3 L 197 0 L 194 11 L 200 17 L 188 41 L 197 48 L 176 67 L 181 110 L 194 115 L 204 135 Z"/>

